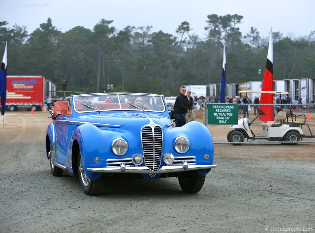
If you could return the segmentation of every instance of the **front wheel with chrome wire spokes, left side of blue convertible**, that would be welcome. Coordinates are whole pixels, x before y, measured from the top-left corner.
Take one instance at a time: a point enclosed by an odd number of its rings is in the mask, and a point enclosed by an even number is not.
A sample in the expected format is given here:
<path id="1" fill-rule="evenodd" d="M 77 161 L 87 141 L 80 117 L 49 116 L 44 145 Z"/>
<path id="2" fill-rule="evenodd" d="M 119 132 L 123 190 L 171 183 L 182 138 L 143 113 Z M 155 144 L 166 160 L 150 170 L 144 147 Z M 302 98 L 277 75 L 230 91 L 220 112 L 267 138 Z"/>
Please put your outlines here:
<path id="1" fill-rule="evenodd" d="M 102 177 L 97 180 L 90 180 L 83 170 L 83 163 L 80 151 L 78 152 L 78 175 L 80 184 L 85 194 L 95 196 L 100 193 L 102 187 Z"/>

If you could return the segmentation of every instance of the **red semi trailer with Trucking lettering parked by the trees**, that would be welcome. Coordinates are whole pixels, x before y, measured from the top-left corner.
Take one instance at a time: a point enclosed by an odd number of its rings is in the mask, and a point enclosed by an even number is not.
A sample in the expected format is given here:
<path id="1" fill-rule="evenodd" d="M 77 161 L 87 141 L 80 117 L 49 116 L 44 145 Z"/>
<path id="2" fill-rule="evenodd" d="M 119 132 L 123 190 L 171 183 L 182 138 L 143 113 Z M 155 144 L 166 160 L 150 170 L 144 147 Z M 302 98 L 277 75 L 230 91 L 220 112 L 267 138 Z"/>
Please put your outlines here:
<path id="1" fill-rule="evenodd" d="M 47 82 L 48 81 L 48 82 Z M 6 107 L 8 111 L 16 111 L 18 107 L 29 110 L 41 110 L 45 104 L 45 95 L 51 95 L 49 80 L 43 76 L 7 76 Z M 45 88 L 46 86 L 46 88 Z"/>

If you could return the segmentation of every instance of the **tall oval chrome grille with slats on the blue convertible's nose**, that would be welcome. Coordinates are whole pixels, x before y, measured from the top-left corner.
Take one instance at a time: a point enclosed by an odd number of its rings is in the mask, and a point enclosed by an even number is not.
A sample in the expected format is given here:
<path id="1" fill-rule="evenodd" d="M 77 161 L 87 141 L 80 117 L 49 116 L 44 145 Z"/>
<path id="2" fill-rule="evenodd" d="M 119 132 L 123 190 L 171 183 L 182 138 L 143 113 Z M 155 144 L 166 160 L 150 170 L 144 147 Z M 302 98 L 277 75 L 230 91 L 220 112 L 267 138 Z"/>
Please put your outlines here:
<path id="1" fill-rule="evenodd" d="M 145 126 L 141 131 L 144 162 L 151 170 L 158 170 L 162 159 L 163 136 L 160 126 Z"/>

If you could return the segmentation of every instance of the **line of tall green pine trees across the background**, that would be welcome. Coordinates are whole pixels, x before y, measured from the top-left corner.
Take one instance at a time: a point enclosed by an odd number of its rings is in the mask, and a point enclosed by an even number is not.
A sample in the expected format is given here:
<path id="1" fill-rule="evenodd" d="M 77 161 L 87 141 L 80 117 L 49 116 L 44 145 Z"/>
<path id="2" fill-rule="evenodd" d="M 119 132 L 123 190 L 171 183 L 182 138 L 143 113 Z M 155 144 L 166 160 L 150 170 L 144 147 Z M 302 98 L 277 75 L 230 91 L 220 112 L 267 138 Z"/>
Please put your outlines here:
<path id="1" fill-rule="evenodd" d="M 0 21 L 0 51 L 8 42 L 8 75 L 43 75 L 61 90 L 85 93 L 139 92 L 177 95 L 180 85 L 221 83 L 223 43 L 227 83 L 261 81 L 268 38 L 251 27 L 242 35 L 241 15 L 207 16 L 207 37 L 191 33 L 184 21 L 176 34 L 152 31 L 152 26 L 111 26 L 101 19 L 93 30 L 76 26 L 61 32 L 52 20 L 29 33 L 26 26 L 6 27 Z M 314 77 L 315 31 L 292 40 L 273 32 L 274 79 Z M 113 89 L 108 89 L 112 85 Z"/>

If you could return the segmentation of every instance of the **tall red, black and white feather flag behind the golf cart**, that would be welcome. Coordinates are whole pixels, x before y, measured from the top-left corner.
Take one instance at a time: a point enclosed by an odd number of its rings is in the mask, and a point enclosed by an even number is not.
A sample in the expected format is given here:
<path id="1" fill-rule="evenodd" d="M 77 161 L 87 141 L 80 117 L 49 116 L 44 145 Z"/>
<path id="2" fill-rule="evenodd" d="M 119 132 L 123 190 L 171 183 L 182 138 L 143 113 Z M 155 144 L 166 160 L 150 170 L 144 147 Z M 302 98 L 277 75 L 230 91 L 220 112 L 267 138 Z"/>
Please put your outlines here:
<path id="1" fill-rule="evenodd" d="M 272 28 L 270 29 L 270 39 L 267 54 L 267 63 L 264 73 L 264 80 L 262 81 L 262 91 L 273 91 L 273 54 L 272 54 Z M 266 116 L 260 115 L 259 119 L 262 121 L 273 121 L 273 95 L 272 94 L 261 94 L 260 104 L 270 104 L 261 105 L 259 108 L 266 113 Z"/>

